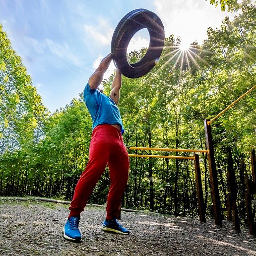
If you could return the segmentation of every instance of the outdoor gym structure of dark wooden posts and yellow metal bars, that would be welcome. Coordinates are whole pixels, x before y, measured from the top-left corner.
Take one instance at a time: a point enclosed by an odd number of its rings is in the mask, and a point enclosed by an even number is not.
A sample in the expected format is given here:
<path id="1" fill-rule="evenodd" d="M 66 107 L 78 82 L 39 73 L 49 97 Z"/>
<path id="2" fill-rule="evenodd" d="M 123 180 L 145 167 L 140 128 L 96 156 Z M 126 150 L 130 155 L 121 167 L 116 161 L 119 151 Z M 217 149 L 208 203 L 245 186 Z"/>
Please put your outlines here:
<path id="1" fill-rule="evenodd" d="M 176 158 L 176 159 L 193 159 L 194 160 L 194 169 L 195 169 L 195 181 L 196 181 L 196 193 L 199 207 L 199 216 L 201 222 L 206 222 L 205 218 L 205 205 L 203 202 L 203 192 L 202 192 L 202 183 L 201 183 L 201 173 L 199 165 L 199 155 L 197 153 L 206 153 L 208 158 L 209 165 L 209 176 L 211 184 L 211 195 L 213 203 L 213 213 L 215 224 L 222 226 L 222 216 L 221 216 L 221 201 L 218 187 L 218 178 L 217 178 L 217 168 L 214 157 L 214 147 L 212 140 L 211 132 L 211 123 L 216 120 L 220 115 L 225 113 L 233 105 L 235 105 L 239 100 L 244 98 L 248 93 L 253 91 L 256 88 L 256 85 L 253 86 L 250 90 L 244 93 L 241 97 L 231 103 L 227 108 L 221 111 L 216 117 L 211 120 L 204 120 L 204 131 L 206 139 L 206 150 L 196 150 L 196 149 L 176 149 L 176 148 L 152 148 L 152 147 L 129 147 L 127 149 L 135 150 L 151 150 L 151 151 L 166 151 L 166 152 L 192 152 L 193 156 L 167 156 L 167 155 L 138 155 L 138 154 L 128 154 L 130 157 L 147 157 L 147 158 Z M 252 208 L 252 197 L 256 193 L 256 153 L 255 149 L 252 149 L 251 152 L 251 162 L 252 162 L 252 181 L 249 178 L 249 175 L 245 175 L 246 181 L 246 212 L 247 212 L 247 221 L 249 225 L 249 231 L 251 235 L 256 235 L 256 223 L 255 216 L 253 214 Z M 228 198 L 227 198 L 227 219 L 234 222 L 234 229 L 236 231 L 241 231 L 240 229 L 240 219 L 238 216 L 236 198 L 237 198 L 237 182 L 235 171 L 233 167 L 233 159 L 231 150 L 228 152 L 228 173 L 227 173 L 227 183 L 228 183 Z"/>

